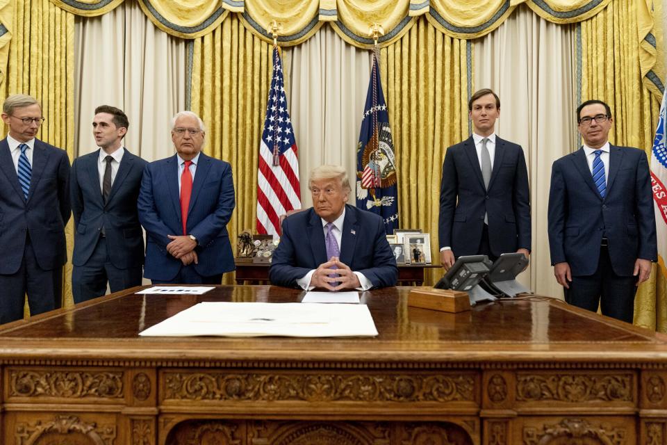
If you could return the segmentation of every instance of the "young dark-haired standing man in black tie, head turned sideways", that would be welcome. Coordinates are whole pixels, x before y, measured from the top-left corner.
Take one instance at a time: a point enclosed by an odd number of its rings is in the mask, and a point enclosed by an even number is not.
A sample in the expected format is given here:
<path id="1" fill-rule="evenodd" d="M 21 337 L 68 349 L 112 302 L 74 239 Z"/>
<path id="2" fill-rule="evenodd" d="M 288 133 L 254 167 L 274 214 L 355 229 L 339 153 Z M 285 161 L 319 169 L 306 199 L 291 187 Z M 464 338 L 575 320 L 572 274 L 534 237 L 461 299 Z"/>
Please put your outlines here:
<path id="1" fill-rule="evenodd" d="M 144 237 L 137 198 L 146 161 L 122 145 L 129 122 L 118 108 L 95 108 L 92 134 L 99 149 L 72 163 L 74 302 L 141 284 Z"/>

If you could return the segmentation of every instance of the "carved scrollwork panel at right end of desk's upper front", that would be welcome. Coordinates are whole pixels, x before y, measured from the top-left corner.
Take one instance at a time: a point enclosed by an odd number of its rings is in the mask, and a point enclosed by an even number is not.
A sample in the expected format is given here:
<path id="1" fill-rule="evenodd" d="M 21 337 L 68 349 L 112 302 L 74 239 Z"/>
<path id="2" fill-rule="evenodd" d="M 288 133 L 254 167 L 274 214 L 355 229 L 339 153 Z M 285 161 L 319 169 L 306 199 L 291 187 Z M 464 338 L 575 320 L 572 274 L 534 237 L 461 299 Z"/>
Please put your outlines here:
<path id="1" fill-rule="evenodd" d="M 518 375 L 517 401 L 631 402 L 632 374 Z"/>

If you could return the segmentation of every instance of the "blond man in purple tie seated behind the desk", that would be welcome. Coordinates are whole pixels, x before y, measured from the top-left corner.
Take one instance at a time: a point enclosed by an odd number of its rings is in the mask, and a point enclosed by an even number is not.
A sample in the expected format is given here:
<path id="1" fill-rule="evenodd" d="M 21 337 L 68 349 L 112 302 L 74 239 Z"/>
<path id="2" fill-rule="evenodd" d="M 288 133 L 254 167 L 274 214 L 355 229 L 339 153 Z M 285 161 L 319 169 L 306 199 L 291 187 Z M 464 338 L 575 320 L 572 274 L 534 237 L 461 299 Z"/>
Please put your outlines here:
<path id="1" fill-rule="evenodd" d="M 345 204 L 351 191 L 345 170 L 337 165 L 315 168 L 308 188 L 313 207 L 283 221 L 269 269 L 271 283 L 329 291 L 395 285 L 398 269 L 384 222 Z"/>

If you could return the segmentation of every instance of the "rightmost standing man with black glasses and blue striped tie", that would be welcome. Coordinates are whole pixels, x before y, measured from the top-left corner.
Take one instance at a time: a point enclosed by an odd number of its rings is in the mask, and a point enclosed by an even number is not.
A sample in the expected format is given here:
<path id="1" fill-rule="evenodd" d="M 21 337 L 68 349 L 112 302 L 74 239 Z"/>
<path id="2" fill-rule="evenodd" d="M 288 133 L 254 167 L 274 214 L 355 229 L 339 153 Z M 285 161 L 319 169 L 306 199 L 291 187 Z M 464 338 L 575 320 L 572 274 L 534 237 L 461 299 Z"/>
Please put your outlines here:
<path id="1" fill-rule="evenodd" d="M 609 105 L 577 108 L 584 145 L 552 166 L 549 245 L 570 305 L 632 323 L 634 296 L 657 261 L 646 154 L 609 143 Z"/>

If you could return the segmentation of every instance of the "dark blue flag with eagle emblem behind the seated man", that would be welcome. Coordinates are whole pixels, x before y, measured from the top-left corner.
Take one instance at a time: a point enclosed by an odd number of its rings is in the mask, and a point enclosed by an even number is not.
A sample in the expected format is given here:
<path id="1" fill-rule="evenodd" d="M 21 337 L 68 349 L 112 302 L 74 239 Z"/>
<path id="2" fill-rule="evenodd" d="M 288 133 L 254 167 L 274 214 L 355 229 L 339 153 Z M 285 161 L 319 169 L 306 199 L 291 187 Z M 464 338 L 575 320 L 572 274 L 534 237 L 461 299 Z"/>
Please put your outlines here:
<path id="1" fill-rule="evenodd" d="M 396 158 L 376 54 L 356 147 L 356 176 L 356 207 L 377 213 L 393 234 L 398 228 Z"/>

